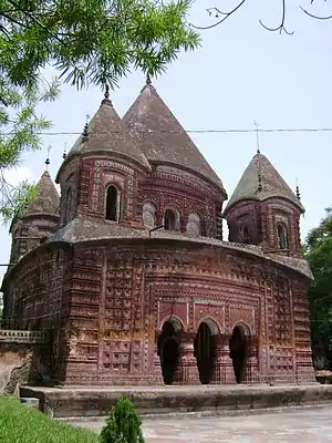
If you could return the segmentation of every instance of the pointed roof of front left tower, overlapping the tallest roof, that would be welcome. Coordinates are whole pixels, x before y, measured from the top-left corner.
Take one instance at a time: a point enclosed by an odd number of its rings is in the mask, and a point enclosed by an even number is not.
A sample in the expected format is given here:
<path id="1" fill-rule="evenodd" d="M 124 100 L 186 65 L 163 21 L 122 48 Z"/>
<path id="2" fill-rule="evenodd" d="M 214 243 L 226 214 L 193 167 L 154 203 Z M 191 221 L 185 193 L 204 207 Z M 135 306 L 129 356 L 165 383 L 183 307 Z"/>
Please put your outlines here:
<path id="1" fill-rule="evenodd" d="M 149 167 L 144 154 L 135 147 L 131 135 L 124 133 L 121 119 L 108 99 L 108 91 L 83 134 L 69 152 L 65 162 L 74 154 L 97 152 L 117 153 Z"/>

